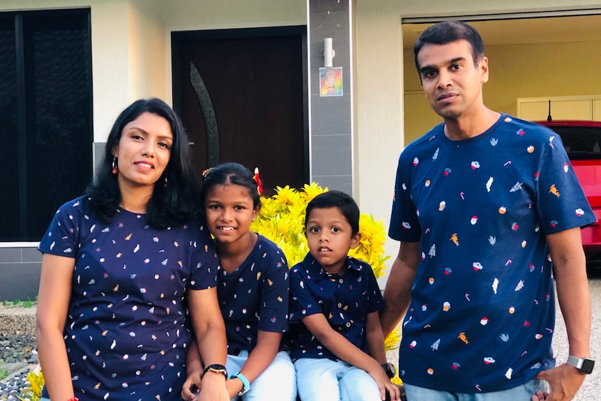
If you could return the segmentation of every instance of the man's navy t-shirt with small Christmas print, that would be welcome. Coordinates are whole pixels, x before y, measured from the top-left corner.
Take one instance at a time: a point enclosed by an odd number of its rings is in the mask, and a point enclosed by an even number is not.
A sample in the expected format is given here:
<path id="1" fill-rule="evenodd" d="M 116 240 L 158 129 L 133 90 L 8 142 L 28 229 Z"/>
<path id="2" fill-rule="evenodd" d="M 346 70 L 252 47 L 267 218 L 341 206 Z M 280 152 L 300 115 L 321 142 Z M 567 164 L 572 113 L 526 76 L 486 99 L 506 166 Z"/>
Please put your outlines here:
<path id="1" fill-rule="evenodd" d="M 545 235 L 595 222 L 560 137 L 501 115 L 451 141 L 443 124 L 397 169 L 391 238 L 420 242 L 400 376 L 456 393 L 501 391 L 554 365 Z"/>

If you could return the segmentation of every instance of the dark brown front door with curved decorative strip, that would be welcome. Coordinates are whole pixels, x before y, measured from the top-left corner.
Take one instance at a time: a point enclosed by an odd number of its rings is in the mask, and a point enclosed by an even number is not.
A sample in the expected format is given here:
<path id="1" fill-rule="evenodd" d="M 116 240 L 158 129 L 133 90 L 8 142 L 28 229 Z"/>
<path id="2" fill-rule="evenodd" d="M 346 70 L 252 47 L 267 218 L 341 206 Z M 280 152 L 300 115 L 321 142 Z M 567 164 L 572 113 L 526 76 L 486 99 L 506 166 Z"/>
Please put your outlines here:
<path id="1" fill-rule="evenodd" d="M 174 109 L 198 174 L 259 167 L 266 195 L 308 179 L 306 28 L 172 33 Z"/>

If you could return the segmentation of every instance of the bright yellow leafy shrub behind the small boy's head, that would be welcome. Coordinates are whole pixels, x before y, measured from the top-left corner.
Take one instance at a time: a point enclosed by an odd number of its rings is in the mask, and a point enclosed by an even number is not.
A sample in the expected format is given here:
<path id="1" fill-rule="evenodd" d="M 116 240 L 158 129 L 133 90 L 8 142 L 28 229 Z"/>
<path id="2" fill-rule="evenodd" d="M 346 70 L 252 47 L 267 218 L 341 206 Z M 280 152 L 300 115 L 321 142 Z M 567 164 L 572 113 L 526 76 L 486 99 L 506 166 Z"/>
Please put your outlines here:
<path id="1" fill-rule="evenodd" d="M 301 190 L 289 186 L 275 188 L 273 197 L 261 198 L 261 211 L 250 229 L 277 243 L 284 251 L 289 266 L 302 262 L 309 252 L 305 238 L 305 209 L 307 204 L 328 190 L 317 183 L 305 184 Z M 381 221 L 374 220 L 373 215 L 361 213 L 359 218 L 361 241 L 357 248 L 351 249 L 349 255 L 369 263 L 374 275 L 380 277 L 385 268 L 384 262 L 389 256 L 384 255 L 386 234 Z"/>

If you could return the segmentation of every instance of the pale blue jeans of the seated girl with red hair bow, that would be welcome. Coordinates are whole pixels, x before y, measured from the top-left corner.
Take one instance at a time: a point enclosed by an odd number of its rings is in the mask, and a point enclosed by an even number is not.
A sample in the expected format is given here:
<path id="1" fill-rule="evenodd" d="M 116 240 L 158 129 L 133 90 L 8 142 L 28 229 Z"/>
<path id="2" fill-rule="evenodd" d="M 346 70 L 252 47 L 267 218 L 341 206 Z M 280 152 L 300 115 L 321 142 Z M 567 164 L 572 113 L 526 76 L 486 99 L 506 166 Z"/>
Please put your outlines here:
<path id="1" fill-rule="evenodd" d="M 225 368 L 228 374 L 240 372 L 248 358 L 248 351 L 240 351 L 238 355 L 228 355 Z M 242 398 L 244 401 L 295 401 L 296 373 L 290 356 L 286 351 L 275 355 L 271 364 L 250 384 L 250 390 Z M 240 397 L 231 399 L 240 400 Z"/>

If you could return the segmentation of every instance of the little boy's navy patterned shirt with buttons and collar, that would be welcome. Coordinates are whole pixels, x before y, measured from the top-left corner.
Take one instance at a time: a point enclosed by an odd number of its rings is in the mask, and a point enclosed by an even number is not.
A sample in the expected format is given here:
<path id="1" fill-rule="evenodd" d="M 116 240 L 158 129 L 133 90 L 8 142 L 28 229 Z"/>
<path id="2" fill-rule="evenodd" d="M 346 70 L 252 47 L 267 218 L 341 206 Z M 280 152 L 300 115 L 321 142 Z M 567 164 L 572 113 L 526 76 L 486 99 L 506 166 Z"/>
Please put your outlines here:
<path id="1" fill-rule="evenodd" d="M 321 313 L 330 326 L 353 345 L 367 352 L 367 315 L 383 308 L 376 277 L 369 264 L 347 258 L 343 275 L 324 271 L 310 253 L 290 272 L 290 357 L 329 358 L 332 352 L 303 324 L 304 317 Z"/>

